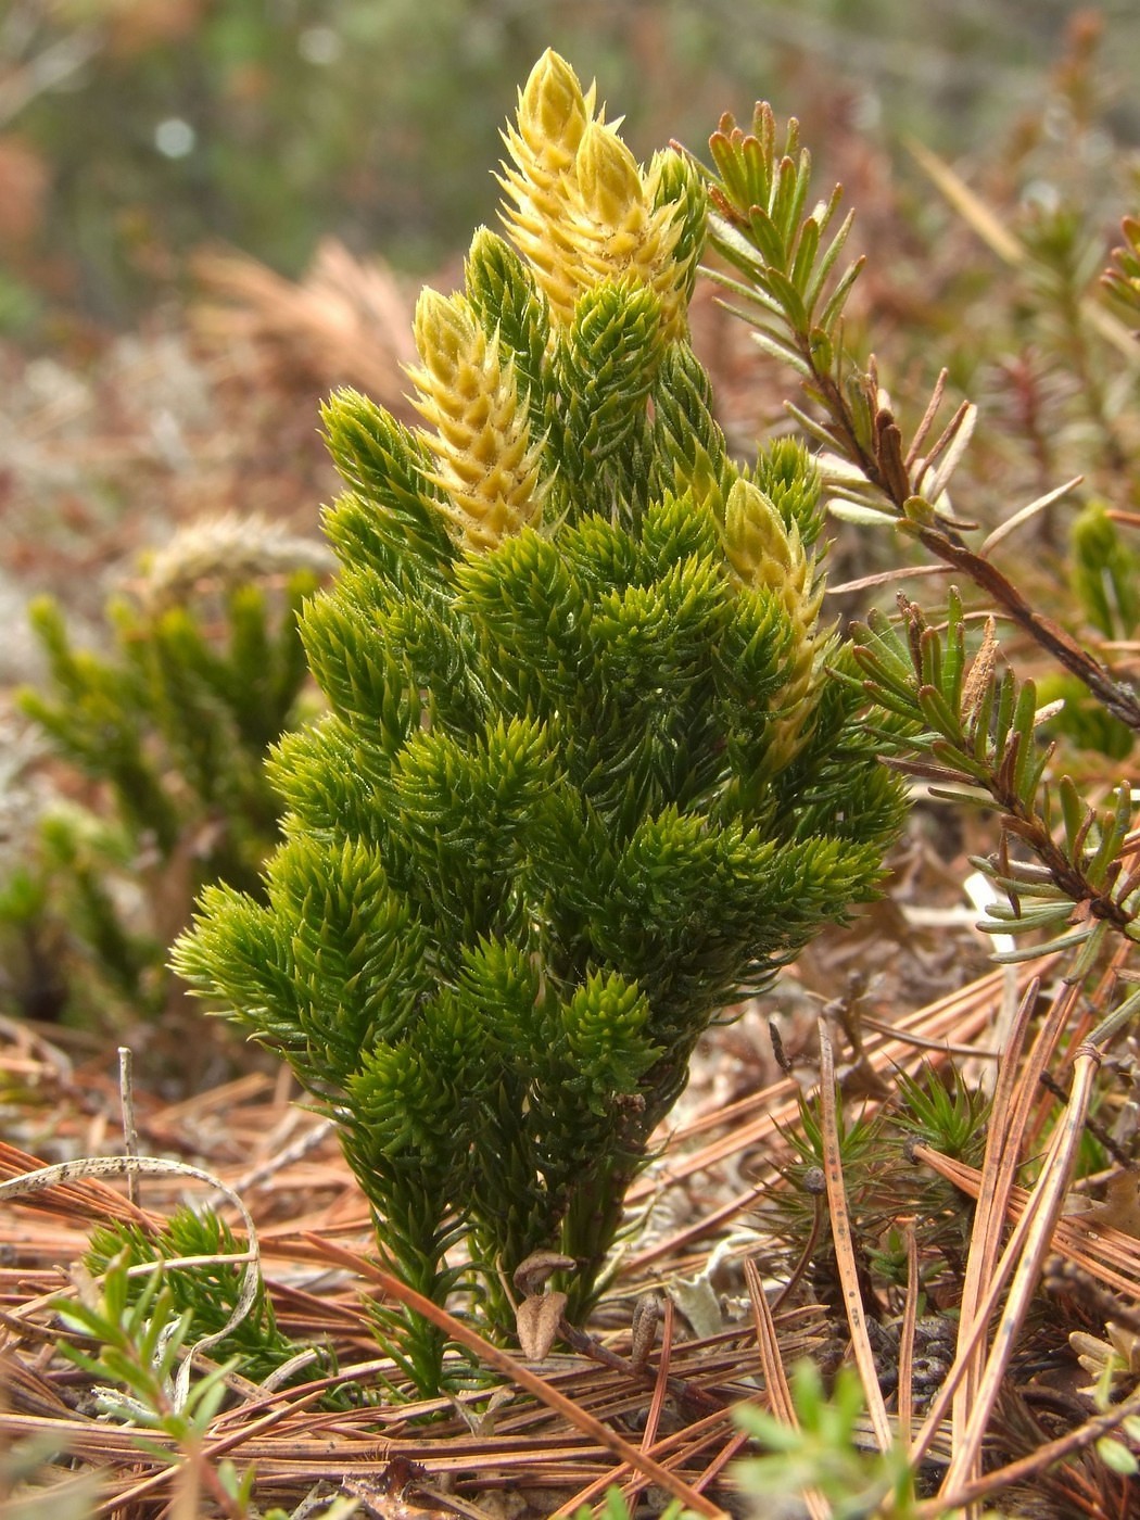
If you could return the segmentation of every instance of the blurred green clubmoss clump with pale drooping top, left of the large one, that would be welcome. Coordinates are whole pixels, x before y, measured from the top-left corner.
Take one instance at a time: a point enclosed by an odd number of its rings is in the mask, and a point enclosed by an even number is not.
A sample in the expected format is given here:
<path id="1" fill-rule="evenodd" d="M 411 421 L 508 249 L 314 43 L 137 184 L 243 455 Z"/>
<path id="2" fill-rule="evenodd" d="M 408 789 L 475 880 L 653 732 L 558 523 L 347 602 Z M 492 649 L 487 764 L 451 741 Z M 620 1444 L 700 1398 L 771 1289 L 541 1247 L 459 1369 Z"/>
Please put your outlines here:
<path id="1" fill-rule="evenodd" d="M 0 898 L 20 1011 L 161 1011 L 198 889 L 257 891 L 280 812 L 264 754 L 307 678 L 296 616 L 315 558 L 255 520 L 192 527 L 109 603 L 106 654 L 74 648 L 56 602 L 33 605 L 49 681 L 20 705 L 88 801 L 46 809 Z"/>

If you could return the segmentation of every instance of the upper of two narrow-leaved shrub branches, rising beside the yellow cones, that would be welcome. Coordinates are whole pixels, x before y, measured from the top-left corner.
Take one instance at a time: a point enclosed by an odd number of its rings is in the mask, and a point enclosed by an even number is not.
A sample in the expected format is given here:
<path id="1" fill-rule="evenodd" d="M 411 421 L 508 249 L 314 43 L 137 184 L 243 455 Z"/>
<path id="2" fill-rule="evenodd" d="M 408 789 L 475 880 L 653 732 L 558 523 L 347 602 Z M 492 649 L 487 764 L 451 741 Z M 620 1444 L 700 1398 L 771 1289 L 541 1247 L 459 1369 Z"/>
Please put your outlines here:
<path id="1" fill-rule="evenodd" d="M 757 105 L 751 131 L 725 116 L 713 134 L 716 173 L 711 242 L 743 277 L 720 275 L 755 328 L 760 347 L 796 371 L 813 410 L 789 412 L 822 444 L 822 464 L 838 514 L 888 524 L 917 538 L 938 559 L 973 581 L 1066 670 L 1082 681 L 1108 711 L 1140 730 L 1140 699 L 1052 619 L 1041 616 L 985 553 L 965 541 L 973 526 L 950 509 L 947 486 L 970 442 L 977 409 L 964 401 L 935 435 L 945 372 L 915 435 L 906 442 L 874 359 L 860 366 L 844 340 L 844 306 L 859 277 L 859 258 L 839 272 L 851 225 L 848 216 L 825 240 L 842 198 L 841 187 L 809 208 L 812 158 L 792 119 L 783 135 L 772 108 Z M 1129 240 L 1131 223 L 1125 223 Z M 1134 298 L 1134 254 L 1120 249 L 1107 281 L 1113 293 Z M 1058 278 L 1061 278 L 1058 275 Z M 1072 280 L 1066 286 L 1072 299 Z M 1096 407 L 1091 385 L 1085 386 Z M 1064 494 L 1050 492 L 1047 500 Z M 1034 508 L 1046 502 L 1032 503 Z M 1026 508 L 1024 511 L 1029 511 Z"/>

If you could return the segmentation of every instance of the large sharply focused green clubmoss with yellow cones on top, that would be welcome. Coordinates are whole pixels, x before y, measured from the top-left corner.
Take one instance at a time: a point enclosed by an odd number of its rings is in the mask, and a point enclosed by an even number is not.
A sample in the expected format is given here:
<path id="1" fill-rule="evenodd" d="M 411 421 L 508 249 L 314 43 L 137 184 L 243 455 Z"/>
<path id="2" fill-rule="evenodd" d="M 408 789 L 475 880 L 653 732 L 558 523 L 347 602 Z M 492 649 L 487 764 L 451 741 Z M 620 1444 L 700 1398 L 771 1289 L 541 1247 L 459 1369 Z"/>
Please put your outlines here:
<path id="1" fill-rule="evenodd" d="M 211 888 L 176 947 L 336 1116 L 385 1262 L 505 1332 L 537 1249 L 588 1312 L 698 1037 L 900 818 L 819 623 L 816 471 L 737 468 L 687 342 L 699 173 L 640 167 L 553 53 L 506 144 L 506 237 L 416 309 L 424 426 L 325 410 L 330 711 L 272 762 L 268 903 Z M 385 1335 L 441 1386 L 430 1325 Z"/>

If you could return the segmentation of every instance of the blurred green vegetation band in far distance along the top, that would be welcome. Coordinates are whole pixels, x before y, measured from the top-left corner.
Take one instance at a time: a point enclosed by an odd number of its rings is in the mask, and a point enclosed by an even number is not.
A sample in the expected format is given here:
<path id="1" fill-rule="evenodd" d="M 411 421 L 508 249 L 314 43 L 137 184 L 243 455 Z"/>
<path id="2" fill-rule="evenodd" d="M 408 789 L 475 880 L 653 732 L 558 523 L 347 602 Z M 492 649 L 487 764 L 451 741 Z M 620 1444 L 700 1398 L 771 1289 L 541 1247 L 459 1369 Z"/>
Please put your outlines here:
<path id="1" fill-rule="evenodd" d="M 5 0 L 0 325 L 129 322 L 225 242 L 299 274 L 325 236 L 430 271 L 494 217 L 486 164 L 553 46 L 648 155 L 724 109 L 959 157 L 1032 116 L 1064 0 Z M 1100 8 L 1102 149 L 1140 141 L 1140 11 Z M 1062 123 L 1044 123 L 1044 131 Z"/>

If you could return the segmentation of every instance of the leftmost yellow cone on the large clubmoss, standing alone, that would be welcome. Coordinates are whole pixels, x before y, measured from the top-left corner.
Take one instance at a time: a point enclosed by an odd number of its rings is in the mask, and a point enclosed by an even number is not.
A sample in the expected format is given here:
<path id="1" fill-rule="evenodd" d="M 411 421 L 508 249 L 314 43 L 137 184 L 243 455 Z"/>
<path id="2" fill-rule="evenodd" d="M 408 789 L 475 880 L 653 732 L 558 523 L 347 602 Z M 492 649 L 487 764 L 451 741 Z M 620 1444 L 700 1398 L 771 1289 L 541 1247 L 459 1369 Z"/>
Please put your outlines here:
<path id="1" fill-rule="evenodd" d="M 429 424 L 420 436 L 436 464 L 441 511 L 464 549 L 492 549 L 538 518 L 546 492 L 514 363 L 502 362 L 497 336 L 459 295 L 423 292 L 415 342 L 416 409 Z"/>

